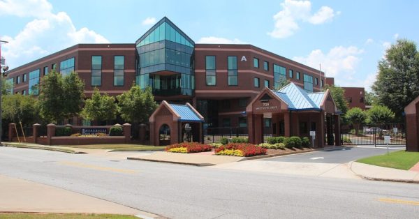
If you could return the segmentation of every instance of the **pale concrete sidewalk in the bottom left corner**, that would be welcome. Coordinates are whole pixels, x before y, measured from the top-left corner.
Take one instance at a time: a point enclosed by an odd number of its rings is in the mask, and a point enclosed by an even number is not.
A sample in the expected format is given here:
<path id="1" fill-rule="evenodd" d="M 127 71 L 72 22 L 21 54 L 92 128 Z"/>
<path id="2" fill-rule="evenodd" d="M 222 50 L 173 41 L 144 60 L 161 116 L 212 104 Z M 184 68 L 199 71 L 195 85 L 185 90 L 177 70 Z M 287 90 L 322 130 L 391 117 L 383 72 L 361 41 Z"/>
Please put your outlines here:
<path id="1" fill-rule="evenodd" d="M 77 192 L 0 175 L 0 212 L 110 213 L 158 216 Z"/>

